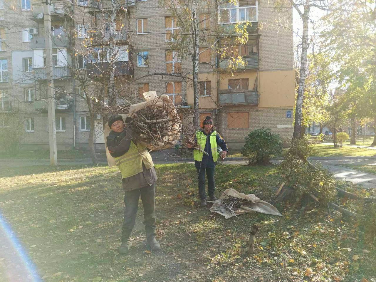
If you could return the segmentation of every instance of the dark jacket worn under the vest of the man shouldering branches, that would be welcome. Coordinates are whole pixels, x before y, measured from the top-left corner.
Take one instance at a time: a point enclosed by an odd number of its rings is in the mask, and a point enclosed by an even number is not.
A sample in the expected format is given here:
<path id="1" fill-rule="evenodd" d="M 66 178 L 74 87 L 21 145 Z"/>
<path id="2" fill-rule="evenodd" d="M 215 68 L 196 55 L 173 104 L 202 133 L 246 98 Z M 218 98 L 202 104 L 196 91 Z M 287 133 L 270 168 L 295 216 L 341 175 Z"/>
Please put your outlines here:
<path id="1" fill-rule="evenodd" d="M 129 124 L 126 124 L 124 130 L 120 133 L 111 130 L 111 132 L 107 136 L 106 143 L 111 156 L 116 158 L 128 152 L 130 141 L 133 140 L 133 142 L 136 143 L 134 136 L 135 135 L 132 131 L 132 127 Z M 153 185 L 153 183 L 156 182 L 158 177 L 155 172 L 155 168 L 152 167 L 149 170 L 147 170 L 144 164 L 142 165 L 142 167 L 143 172 L 140 172 L 136 175 L 127 178 L 123 178 L 124 190 L 135 190 Z"/>

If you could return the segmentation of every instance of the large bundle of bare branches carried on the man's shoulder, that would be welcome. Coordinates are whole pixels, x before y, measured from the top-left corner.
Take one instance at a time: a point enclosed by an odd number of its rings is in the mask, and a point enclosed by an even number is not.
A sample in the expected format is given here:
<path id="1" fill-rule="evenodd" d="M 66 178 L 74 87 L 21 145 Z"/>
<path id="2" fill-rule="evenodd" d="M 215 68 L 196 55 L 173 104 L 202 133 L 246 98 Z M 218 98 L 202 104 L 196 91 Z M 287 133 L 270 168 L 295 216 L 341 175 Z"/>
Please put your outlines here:
<path id="1" fill-rule="evenodd" d="M 162 103 L 161 106 L 161 101 L 158 102 L 158 106 L 152 103 L 136 111 L 131 122 L 133 132 L 140 136 L 140 140 L 155 147 L 172 144 L 181 133 L 176 109 L 168 103 Z"/>

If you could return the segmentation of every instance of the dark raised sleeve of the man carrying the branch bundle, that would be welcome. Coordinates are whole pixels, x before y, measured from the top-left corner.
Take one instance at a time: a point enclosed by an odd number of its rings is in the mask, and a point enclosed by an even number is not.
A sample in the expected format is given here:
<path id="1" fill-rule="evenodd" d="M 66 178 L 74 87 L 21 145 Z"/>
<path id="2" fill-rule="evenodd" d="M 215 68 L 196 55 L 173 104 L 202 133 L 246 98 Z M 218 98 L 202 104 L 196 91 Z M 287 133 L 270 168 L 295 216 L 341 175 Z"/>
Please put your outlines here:
<path id="1" fill-rule="evenodd" d="M 130 125 L 126 125 L 120 135 L 112 132 L 107 136 L 107 147 L 114 158 L 124 155 L 129 150 L 130 141 L 133 139 L 133 131 Z"/>

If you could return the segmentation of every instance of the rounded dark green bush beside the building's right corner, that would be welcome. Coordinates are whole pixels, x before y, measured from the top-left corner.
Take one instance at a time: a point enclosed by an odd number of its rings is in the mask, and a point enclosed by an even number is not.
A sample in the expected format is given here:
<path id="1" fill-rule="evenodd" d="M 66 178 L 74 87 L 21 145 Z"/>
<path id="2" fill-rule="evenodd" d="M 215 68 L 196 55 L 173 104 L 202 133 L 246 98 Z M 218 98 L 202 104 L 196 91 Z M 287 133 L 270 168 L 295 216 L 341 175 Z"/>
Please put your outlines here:
<path id="1" fill-rule="evenodd" d="M 262 127 L 248 134 L 241 154 L 249 164 L 268 164 L 274 156 L 282 153 L 282 145 L 278 134 Z"/>

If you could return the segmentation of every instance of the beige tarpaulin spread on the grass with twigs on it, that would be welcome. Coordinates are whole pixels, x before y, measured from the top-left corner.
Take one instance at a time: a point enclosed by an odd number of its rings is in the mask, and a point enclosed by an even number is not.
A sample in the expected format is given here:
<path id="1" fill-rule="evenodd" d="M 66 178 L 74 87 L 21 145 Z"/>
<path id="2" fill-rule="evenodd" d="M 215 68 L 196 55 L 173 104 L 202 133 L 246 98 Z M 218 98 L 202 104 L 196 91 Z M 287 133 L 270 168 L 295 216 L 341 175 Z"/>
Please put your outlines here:
<path id="1" fill-rule="evenodd" d="M 247 199 L 252 202 L 250 207 L 248 206 L 240 206 L 238 209 L 228 209 L 226 205 L 223 203 L 222 199 L 226 198 L 226 195 L 237 197 L 240 199 Z M 261 212 L 262 214 L 271 214 L 271 215 L 279 215 L 280 212 L 270 203 L 261 200 L 260 198 L 256 197 L 254 194 L 244 194 L 236 191 L 235 189 L 227 189 L 223 192 L 223 194 L 219 197 L 216 201 L 208 201 L 213 203 L 210 211 L 217 212 L 220 215 L 223 215 L 226 219 L 233 217 L 234 215 L 246 214 L 247 212 Z"/>

